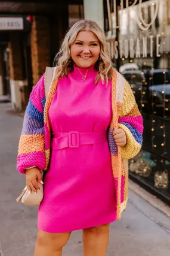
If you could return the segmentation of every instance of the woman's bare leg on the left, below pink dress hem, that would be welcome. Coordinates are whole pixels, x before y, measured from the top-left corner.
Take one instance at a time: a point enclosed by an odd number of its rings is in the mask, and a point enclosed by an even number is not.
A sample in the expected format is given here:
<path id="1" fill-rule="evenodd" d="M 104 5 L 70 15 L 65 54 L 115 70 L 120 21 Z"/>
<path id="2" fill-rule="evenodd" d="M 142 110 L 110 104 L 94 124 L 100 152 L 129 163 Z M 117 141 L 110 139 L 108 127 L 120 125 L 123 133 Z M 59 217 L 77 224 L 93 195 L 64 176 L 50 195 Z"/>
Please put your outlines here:
<path id="1" fill-rule="evenodd" d="M 70 234 L 71 232 L 48 233 L 38 230 L 34 256 L 61 256 Z"/>

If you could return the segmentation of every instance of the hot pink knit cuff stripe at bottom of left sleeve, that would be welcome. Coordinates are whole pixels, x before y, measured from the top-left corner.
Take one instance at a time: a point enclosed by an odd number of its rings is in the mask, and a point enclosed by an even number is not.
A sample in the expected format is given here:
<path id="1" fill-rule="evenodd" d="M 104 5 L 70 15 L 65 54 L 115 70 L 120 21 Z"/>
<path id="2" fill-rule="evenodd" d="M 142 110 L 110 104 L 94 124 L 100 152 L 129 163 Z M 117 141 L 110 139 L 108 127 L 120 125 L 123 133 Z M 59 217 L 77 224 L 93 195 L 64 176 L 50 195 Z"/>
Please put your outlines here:
<path id="1" fill-rule="evenodd" d="M 37 166 L 40 170 L 45 168 L 45 152 L 23 153 L 17 157 L 17 170 L 24 173 L 24 169 Z"/>

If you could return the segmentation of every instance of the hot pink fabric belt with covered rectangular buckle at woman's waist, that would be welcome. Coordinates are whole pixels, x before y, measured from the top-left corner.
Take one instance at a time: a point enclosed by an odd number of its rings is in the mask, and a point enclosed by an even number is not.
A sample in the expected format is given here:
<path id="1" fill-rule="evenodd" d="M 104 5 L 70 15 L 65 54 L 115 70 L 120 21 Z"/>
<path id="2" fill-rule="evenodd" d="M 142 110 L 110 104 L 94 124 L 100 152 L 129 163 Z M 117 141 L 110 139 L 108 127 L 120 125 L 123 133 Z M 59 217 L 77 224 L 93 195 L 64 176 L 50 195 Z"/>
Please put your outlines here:
<path id="1" fill-rule="evenodd" d="M 81 145 L 102 143 L 107 141 L 107 131 L 85 132 L 55 132 L 53 134 L 52 149 L 64 149 L 64 147 L 78 148 Z"/>

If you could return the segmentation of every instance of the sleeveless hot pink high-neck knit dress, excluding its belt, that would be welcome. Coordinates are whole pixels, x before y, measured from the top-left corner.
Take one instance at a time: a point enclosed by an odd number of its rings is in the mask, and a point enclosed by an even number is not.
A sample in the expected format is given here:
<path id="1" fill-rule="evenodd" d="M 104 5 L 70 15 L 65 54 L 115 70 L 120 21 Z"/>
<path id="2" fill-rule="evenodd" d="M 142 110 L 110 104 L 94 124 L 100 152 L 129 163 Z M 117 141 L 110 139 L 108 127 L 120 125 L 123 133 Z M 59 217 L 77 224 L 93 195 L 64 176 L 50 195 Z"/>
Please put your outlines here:
<path id="1" fill-rule="evenodd" d="M 86 73 L 84 68 L 79 70 Z M 95 85 L 94 66 L 85 80 L 79 70 L 74 67 L 58 82 L 48 112 L 52 131 L 107 132 L 112 119 L 111 82 Z M 107 141 L 51 149 L 38 228 L 64 233 L 115 220 L 116 194 Z"/>

